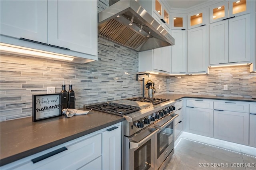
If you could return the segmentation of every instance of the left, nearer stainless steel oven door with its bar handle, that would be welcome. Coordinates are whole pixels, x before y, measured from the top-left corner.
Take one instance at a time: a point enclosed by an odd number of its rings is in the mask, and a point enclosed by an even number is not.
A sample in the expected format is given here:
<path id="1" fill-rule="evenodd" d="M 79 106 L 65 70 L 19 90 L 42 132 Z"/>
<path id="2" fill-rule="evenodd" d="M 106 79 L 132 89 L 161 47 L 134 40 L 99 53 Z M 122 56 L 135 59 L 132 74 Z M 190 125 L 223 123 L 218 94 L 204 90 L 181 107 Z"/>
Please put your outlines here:
<path id="1" fill-rule="evenodd" d="M 154 170 L 154 136 L 158 129 L 147 127 L 124 136 L 124 170 Z"/>

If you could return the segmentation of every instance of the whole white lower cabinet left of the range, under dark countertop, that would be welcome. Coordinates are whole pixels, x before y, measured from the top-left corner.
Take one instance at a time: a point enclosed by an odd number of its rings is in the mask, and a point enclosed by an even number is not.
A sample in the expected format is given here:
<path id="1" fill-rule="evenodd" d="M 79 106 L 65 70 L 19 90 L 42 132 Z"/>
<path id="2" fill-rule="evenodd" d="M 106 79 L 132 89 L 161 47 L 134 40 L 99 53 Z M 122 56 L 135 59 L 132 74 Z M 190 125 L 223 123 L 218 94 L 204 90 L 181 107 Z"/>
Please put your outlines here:
<path id="1" fill-rule="evenodd" d="M 1 166 L 2 170 L 120 169 L 121 123 Z M 112 143 L 114 142 L 114 143 Z"/>

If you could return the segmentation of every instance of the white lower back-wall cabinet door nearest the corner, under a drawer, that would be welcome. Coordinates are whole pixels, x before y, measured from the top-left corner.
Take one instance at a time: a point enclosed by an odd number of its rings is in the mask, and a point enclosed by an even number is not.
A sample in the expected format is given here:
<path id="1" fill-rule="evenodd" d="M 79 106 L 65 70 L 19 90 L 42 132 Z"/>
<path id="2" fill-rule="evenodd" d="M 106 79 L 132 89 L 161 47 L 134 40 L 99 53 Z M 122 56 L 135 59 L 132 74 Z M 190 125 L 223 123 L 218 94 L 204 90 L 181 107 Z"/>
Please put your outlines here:
<path id="1" fill-rule="evenodd" d="M 187 107 L 186 131 L 213 137 L 213 110 Z"/>

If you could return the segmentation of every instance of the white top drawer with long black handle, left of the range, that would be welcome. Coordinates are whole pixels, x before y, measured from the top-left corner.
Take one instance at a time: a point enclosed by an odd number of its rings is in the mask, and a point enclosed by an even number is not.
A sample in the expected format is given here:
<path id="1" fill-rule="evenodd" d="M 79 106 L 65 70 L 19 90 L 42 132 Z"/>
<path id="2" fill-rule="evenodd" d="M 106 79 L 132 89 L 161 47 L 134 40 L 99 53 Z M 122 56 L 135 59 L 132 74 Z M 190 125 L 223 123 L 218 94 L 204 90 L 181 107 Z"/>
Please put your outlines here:
<path id="1" fill-rule="evenodd" d="M 50 150 L 46 154 L 32 158 L 28 160 L 27 163 L 12 167 L 11 169 L 78 169 L 101 156 L 101 138 L 101 134 L 97 134 L 86 139 L 76 140 L 74 143 L 62 147 L 66 148 L 66 150 L 62 152 L 49 156 L 51 155 L 50 153 L 56 151 L 51 152 Z M 34 163 L 32 161 L 34 161 Z"/>

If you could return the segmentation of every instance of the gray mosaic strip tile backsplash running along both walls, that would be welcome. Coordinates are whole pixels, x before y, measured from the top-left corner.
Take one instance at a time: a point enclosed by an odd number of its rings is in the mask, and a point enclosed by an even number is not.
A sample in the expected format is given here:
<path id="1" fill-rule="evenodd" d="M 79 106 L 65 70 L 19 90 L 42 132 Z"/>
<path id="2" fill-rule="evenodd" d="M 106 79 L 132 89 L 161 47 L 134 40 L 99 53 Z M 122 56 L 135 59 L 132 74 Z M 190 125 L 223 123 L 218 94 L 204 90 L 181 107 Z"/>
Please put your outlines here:
<path id="1" fill-rule="evenodd" d="M 98 11 L 107 6 L 108 0 L 98 1 Z M 138 52 L 103 38 L 98 38 L 98 61 L 90 63 L 1 55 L 0 121 L 30 117 L 32 94 L 46 94 L 47 87 L 55 87 L 58 93 L 63 80 L 66 87 L 72 81 L 76 108 L 88 103 L 141 97 L 142 81 L 136 81 L 136 73 Z M 149 79 L 154 81 L 156 95 L 256 97 L 256 73 L 249 73 L 249 66 L 211 68 L 209 75 L 143 77 L 145 83 Z M 228 85 L 228 91 L 223 91 L 223 85 Z"/>

